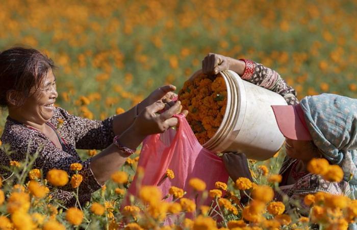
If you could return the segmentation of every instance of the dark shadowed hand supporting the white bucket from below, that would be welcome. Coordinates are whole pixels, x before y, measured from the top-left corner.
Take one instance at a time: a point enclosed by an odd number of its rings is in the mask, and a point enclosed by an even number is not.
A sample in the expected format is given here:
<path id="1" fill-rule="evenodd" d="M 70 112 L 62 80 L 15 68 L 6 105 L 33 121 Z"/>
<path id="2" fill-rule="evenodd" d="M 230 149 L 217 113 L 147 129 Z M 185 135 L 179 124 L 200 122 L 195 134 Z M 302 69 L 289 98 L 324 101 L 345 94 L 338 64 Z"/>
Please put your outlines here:
<path id="1" fill-rule="evenodd" d="M 224 153 L 222 156 L 225 169 L 233 181 L 246 177 L 252 181 L 248 160 L 244 153 Z"/>

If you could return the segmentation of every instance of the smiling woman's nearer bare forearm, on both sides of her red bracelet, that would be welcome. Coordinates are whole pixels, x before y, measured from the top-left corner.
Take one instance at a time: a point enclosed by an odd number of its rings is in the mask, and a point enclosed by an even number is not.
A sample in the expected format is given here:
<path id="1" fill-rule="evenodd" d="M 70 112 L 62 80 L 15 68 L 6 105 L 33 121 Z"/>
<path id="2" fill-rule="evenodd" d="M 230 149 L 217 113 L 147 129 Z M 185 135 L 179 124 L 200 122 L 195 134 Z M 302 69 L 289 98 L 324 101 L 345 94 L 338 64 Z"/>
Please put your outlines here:
<path id="1" fill-rule="evenodd" d="M 127 148 L 136 149 L 144 138 L 144 136 L 139 136 L 135 130 L 129 128 L 119 137 L 119 142 Z M 125 163 L 126 158 L 127 156 L 123 151 L 111 144 L 91 158 L 90 167 L 94 177 L 103 185 Z"/>

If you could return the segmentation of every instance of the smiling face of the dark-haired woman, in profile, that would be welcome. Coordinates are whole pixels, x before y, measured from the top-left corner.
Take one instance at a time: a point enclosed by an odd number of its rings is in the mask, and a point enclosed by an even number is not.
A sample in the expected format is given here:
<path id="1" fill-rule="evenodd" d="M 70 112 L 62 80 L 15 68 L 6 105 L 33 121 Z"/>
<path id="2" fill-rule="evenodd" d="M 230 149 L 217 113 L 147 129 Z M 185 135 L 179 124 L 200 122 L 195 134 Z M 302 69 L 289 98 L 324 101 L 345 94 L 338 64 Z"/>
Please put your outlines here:
<path id="1" fill-rule="evenodd" d="M 33 89 L 21 110 L 25 112 L 25 120 L 43 124 L 48 122 L 54 116 L 54 103 L 58 96 L 56 90 L 56 78 L 52 69 L 48 70 L 43 79 L 42 86 L 37 90 Z"/>

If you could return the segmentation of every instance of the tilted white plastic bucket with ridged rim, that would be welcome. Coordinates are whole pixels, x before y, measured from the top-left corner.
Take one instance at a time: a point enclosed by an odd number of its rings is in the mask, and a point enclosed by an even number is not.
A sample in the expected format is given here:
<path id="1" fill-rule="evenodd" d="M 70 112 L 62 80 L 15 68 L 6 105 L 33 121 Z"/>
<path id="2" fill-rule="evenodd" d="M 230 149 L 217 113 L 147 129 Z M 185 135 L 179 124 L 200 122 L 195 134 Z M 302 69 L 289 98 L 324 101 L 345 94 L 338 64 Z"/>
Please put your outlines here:
<path id="1" fill-rule="evenodd" d="M 190 79 L 199 75 L 201 70 Z M 271 105 L 286 105 L 285 99 L 242 80 L 233 71 L 220 72 L 227 87 L 227 106 L 221 125 L 203 147 L 212 152 L 243 152 L 249 159 L 265 160 L 283 145 Z"/>

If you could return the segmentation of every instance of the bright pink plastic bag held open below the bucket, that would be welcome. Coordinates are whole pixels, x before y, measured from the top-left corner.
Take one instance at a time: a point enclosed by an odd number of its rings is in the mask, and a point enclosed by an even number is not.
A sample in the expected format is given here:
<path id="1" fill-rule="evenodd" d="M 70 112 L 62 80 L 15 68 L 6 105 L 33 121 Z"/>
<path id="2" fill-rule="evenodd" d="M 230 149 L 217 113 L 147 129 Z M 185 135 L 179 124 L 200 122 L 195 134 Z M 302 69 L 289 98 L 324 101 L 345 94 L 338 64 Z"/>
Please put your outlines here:
<path id="1" fill-rule="evenodd" d="M 171 186 L 187 192 L 185 197 L 194 198 L 195 193 L 188 185 L 191 178 L 197 177 L 206 182 L 206 190 L 214 189 L 216 181 L 227 182 L 228 174 L 224 164 L 215 153 L 203 148 L 197 141 L 186 118 L 180 114 L 177 129 L 168 129 L 162 134 L 146 137 L 140 153 L 138 166 L 144 168 L 142 185 L 157 185 L 163 196 L 168 194 Z M 175 177 L 164 178 L 166 170 L 171 169 Z M 129 188 L 131 194 L 137 195 L 137 177 Z M 167 201 L 171 201 L 170 196 Z M 199 203 L 210 203 L 210 198 Z M 198 203 L 198 200 L 197 200 Z"/>

